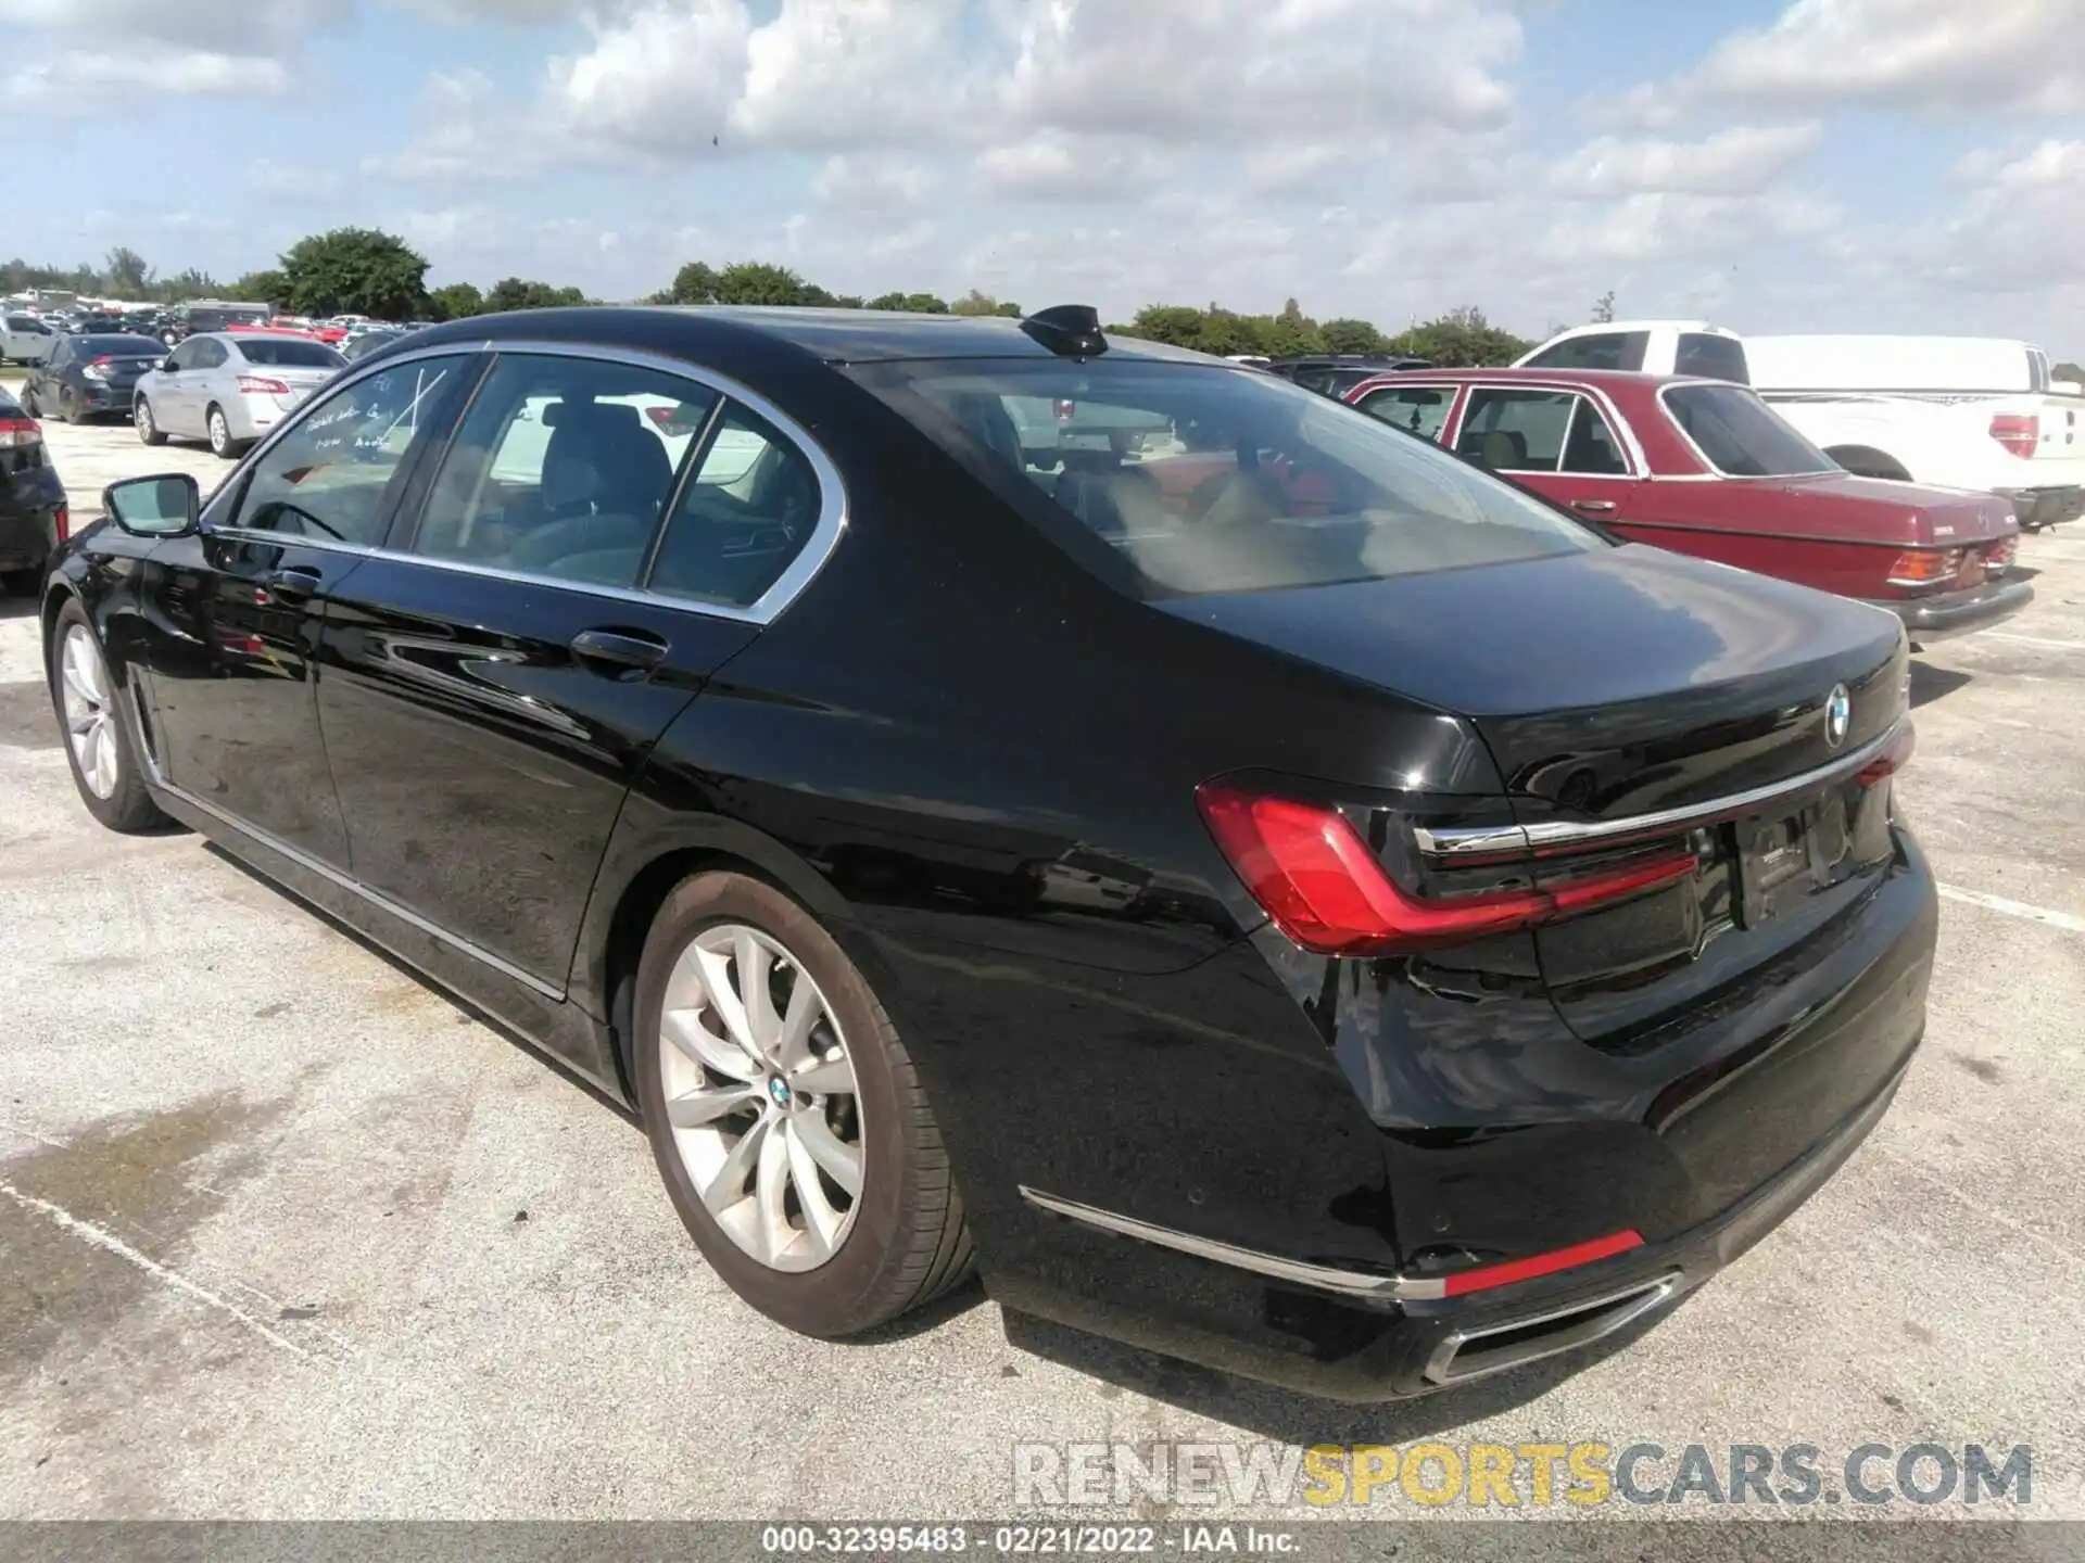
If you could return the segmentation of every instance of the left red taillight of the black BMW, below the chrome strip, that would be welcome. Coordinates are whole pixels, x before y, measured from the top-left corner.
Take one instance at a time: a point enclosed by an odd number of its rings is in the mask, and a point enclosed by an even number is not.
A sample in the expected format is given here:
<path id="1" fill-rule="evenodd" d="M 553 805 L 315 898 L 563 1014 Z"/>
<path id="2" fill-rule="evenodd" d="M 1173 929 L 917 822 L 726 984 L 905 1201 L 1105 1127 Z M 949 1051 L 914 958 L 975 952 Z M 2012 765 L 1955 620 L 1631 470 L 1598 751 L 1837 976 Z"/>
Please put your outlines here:
<path id="1" fill-rule="evenodd" d="M 1551 923 L 1591 907 L 1676 884 L 1695 854 L 1562 879 L 1549 890 L 1499 890 L 1430 900 L 1407 896 L 1336 809 L 1241 792 L 1195 790 L 1201 817 L 1253 900 L 1316 954 L 1395 954 Z"/>

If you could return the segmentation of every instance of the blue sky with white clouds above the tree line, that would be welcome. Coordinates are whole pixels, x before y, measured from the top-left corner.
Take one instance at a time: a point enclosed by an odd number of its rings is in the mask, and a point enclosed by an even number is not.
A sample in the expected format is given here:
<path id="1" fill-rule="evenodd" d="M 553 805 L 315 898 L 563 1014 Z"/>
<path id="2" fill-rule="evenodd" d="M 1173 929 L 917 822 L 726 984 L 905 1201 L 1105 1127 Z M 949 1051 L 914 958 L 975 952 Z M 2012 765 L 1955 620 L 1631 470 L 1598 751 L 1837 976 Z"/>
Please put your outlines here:
<path id="1" fill-rule="evenodd" d="M 2085 0 L 0 0 L 0 248 L 2085 352 Z"/>

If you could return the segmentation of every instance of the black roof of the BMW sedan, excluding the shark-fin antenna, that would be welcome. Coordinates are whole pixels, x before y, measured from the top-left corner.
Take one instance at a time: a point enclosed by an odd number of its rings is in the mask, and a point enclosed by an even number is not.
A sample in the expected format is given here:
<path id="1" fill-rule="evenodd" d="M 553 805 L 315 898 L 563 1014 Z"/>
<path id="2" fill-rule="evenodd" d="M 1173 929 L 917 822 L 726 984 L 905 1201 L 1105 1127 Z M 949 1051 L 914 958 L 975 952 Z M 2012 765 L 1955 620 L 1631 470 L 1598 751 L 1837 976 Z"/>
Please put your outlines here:
<path id="1" fill-rule="evenodd" d="M 473 315 L 413 333 L 415 346 L 442 342 L 584 340 L 642 352 L 698 354 L 719 340 L 769 342 L 801 348 L 826 363 L 886 363 L 899 358 L 1051 358 L 1047 346 L 1003 315 L 901 315 L 880 308 L 794 308 L 742 304 L 651 304 L 530 308 Z M 1236 371 L 1226 358 L 1188 352 L 1140 338 L 1107 338 L 1107 358 L 1140 363 L 1193 363 Z"/>

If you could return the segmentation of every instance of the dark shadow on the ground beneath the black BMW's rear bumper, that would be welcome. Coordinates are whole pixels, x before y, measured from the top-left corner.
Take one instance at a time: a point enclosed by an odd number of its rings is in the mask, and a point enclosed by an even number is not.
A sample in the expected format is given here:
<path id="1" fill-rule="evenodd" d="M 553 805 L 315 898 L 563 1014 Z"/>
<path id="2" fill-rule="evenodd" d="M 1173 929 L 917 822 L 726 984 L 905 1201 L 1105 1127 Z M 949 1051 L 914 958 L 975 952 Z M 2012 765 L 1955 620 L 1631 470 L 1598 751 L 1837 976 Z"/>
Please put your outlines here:
<path id="1" fill-rule="evenodd" d="M 1658 1317 L 1670 1317 L 1670 1313 Z M 1124 1346 L 1013 1309 L 1005 1311 L 1005 1330 L 1007 1344 L 1017 1350 L 1103 1380 L 1109 1386 L 1101 1390 L 1103 1398 L 1130 1390 L 1284 1444 L 1403 1444 L 1499 1417 L 1539 1400 L 1574 1373 L 1626 1350 L 1655 1328 L 1658 1317 L 1618 1330 L 1580 1350 L 1545 1357 L 1460 1388 L 1378 1405 L 1326 1400 L 1234 1378 L 1213 1367 Z"/>

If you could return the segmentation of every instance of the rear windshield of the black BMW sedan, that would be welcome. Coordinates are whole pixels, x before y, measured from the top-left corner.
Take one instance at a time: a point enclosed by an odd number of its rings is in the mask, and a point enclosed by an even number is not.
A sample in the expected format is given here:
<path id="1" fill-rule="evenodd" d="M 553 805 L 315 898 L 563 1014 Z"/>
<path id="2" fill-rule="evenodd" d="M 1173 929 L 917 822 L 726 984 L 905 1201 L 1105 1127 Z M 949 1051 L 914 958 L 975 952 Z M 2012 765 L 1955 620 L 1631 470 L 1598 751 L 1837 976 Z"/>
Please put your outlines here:
<path id="1" fill-rule="evenodd" d="M 1259 592 L 1608 546 L 1366 413 L 1251 369 L 853 369 L 1059 546 L 1145 596 Z"/>

